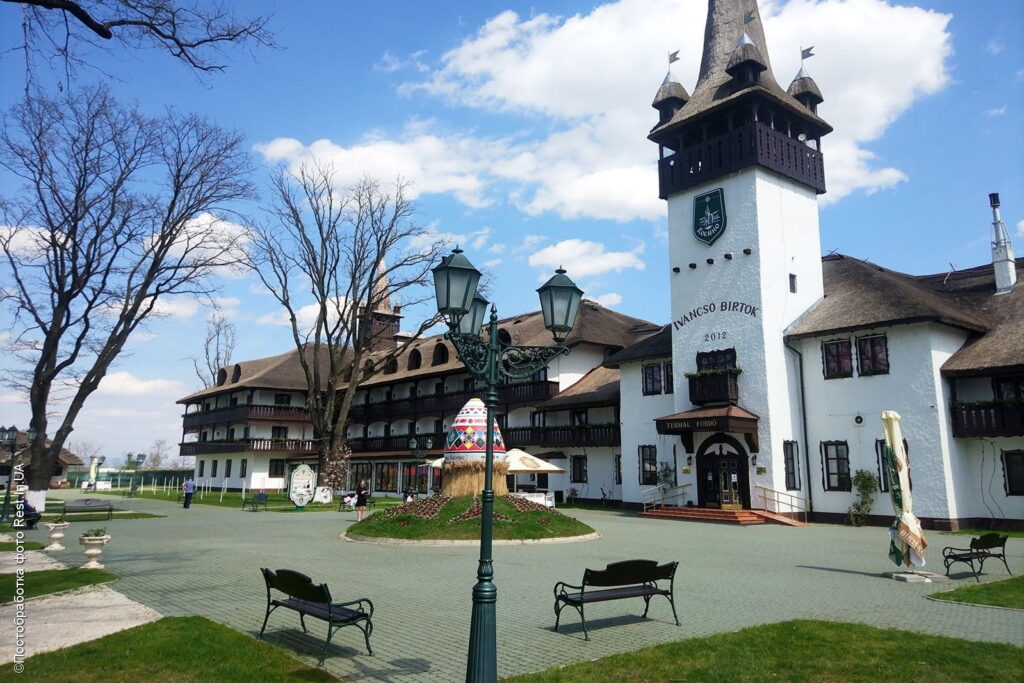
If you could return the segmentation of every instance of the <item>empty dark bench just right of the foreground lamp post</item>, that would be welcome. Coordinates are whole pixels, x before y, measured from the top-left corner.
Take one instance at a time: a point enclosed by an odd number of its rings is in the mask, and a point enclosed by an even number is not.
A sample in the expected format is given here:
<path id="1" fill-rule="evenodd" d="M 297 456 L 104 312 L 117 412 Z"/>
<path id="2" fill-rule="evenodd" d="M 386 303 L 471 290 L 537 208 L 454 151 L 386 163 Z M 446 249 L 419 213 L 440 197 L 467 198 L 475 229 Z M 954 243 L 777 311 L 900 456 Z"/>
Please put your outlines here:
<path id="1" fill-rule="evenodd" d="M 555 631 L 558 631 L 558 620 L 561 618 L 562 609 L 572 607 L 580 612 L 584 638 L 590 640 L 587 620 L 584 617 L 584 605 L 605 600 L 643 598 L 643 616 L 647 618 L 650 599 L 655 595 L 669 598 L 672 616 L 676 620 L 676 626 L 679 626 L 674 596 L 677 566 L 679 562 L 658 564 L 654 560 L 625 560 L 612 562 L 603 569 L 585 570 L 583 584 L 580 586 L 558 582 L 555 584 Z M 668 582 L 668 588 L 664 588 L 658 582 Z M 593 588 L 603 590 L 591 590 Z"/>

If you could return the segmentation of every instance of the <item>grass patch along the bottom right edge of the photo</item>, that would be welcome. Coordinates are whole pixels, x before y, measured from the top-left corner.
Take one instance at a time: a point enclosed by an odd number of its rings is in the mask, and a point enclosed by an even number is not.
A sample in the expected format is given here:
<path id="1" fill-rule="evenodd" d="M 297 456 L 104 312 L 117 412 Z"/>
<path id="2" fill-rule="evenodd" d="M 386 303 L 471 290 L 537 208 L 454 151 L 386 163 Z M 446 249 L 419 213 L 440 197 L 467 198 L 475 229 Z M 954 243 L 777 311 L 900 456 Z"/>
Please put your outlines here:
<path id="1" fill-rule="evenodd" d="M 594 637 L 600 638 L 600 632 Z M 509 681 L 1024 680 L 1024 650 L 833 622 L 782 622 L 519 676 Z"/>

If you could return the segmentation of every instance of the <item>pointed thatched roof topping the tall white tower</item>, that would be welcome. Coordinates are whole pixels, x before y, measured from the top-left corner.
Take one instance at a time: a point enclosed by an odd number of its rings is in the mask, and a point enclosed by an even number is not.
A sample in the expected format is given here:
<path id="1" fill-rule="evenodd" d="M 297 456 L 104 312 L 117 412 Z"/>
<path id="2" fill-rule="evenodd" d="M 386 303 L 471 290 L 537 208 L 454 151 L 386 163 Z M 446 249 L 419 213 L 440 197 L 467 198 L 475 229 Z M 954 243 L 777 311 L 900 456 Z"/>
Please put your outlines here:
<path id="1" fill-rule="evenodd" d="M 751 17 L 751 20 L 744 23 L 743 18 L 748 16 Z M 759 83 L 741 90 L 735 90 L 732 77 L 726 72 L 726 69 L 744 33 L 756 48 L 766 70 L 761 74 Z M 743 49 L 750 51 L 750 48 L 740 48 L 740 50 Z M 831 131 L 831 126 L 816 114 L 808 111 L 775 81 L 768 57 L 768 43 L 765 40 L 764 27 L 761 25 L 757 0 L 709 0 L 703 54 L 700 58 L 700 75 L 697 78 L 697 85 L 693 89 L 693 95 L 670 121 L 655 126 L 649 137 L 659 137 L 670 128 L 675 128 L 686 121 L 701 118 L 740 97 L 746 97 L 751 93 L 761 94 L 779 106 L 812 122 L 822 132 Z"/>

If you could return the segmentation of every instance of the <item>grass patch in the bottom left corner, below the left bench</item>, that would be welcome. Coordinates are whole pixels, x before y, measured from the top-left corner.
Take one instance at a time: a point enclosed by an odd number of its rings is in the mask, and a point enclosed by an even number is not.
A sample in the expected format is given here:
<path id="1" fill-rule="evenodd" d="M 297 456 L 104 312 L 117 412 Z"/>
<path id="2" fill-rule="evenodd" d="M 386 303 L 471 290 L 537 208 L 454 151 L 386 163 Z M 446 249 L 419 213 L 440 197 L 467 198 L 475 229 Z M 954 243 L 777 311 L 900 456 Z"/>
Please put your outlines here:
<path id="1" fill-rule="evenodd" d="M 0 679 L 15 680 L 12 667 L 0 667 Z M 166 616 L 37 654 L 25 661 L 25 673 L 26 680 L 67 683 L 336 680 L 273 645 L 201 616 Z"/>

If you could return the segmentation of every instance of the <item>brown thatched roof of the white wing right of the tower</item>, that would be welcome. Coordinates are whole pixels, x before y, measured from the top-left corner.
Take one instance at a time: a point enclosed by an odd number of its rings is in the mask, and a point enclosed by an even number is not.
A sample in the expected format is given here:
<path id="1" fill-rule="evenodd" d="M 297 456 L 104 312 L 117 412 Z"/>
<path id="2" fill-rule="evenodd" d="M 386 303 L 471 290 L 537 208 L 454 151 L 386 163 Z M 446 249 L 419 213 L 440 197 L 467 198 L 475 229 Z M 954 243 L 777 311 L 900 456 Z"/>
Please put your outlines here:
<path id="1" fill-rule="evenodd" d="M 1024 370 L 1024 258 L 1021 281 L 995 294 L 991 264 L 909 275 L 835 254 L 822 259 L 825 296 L 787 331 L 791 339 L 910 323 L 940 323 L 971 337 L 942 366 L 944 375 Z"/>

